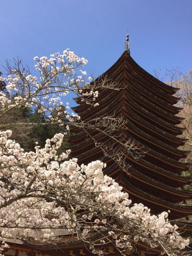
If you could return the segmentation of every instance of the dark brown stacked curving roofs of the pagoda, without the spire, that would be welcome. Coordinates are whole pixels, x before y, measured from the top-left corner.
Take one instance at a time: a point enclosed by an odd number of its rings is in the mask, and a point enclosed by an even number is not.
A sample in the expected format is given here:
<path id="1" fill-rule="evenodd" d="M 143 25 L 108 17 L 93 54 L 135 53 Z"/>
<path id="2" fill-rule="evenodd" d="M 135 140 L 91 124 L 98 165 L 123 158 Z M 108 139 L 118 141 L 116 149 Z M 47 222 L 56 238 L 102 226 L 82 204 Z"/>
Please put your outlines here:
<path id="1" fill-rule="evenodd" d="M 173 96 L 177 88 L 166 85 L 145 72 L 125 51 L 120 59 L 106 72 L 103 77 L 115 82 L 119 90 L 103 89 L 99 92 L 99 106 L 93 108 L 80 103 L 73 110 L 81 116 L 84 122 L 96 117 L 115 115 L 128 120 L 125 130 L 113 133 L 124 142 L 129 139 L 139 146 L 144 157 L 138 160 L 126 155 L 126 161 L 131 165 L 129 175 L 120 170 L 114 160 L 106 158 L 99 147 L 95 147 L 93 139 L 87 133 L 72 128 L 69 139 L 72 146 L 72 156 L 79 163 L 87 164 L 101 159 L 107 163 L 105 173 L 113 177 L 127 191 L 133 202 L 142 202 L 151 208 L 153 213 L 170 210 L 169 218 L 178 219 L 192 215 L 192 207 L 179 203 L 192 198 L 191 191 L 185 191 L 183 186 L 191 184 L 192 178 L 180 176 L 187 171 L 192 163 L 181 162 L 188 151 L 178 147 L 185 144 L 185 139 L 178 137 L 183 128 L 177 126 L 183 118 L 177 116 L 180 108 L 174 106 L 179 98 Z M 100 82 L 101 77 L 96 79 Z M 112 139 L 102 132 L 88 131 L 96 141 L 112 143 Z M 118 149 L 120 145 L 114 144 Z"/>

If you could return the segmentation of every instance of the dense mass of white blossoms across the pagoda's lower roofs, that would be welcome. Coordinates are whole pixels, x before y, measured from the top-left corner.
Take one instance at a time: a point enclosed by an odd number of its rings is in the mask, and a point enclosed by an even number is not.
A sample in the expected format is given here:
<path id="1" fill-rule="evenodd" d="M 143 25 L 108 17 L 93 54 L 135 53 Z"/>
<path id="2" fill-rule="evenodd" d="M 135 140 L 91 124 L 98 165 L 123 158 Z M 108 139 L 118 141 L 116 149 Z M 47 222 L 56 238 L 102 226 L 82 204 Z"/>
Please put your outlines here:
<path id="1" fill-rule="evenodd" d="M 161 246 L 169 255 L 189 244 L 167 212 L 155 216 L 143 204 L 132 206 L 122 187 L 104 175 L 106 164 L 79 166 L 70 150 L 58 155 L 63 134 L 35 152 L 24 152 L 11 135 L 0 132 L 1 237 L 51 241 L 59 231 L 89 243 L 89 235 L 98 232 L 96 245 L 112 241 L 119 250 L 132 250 L 134 240 Z"/>

